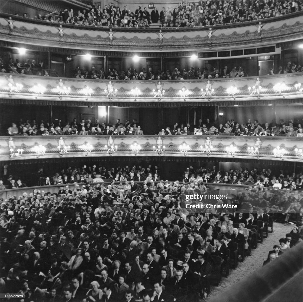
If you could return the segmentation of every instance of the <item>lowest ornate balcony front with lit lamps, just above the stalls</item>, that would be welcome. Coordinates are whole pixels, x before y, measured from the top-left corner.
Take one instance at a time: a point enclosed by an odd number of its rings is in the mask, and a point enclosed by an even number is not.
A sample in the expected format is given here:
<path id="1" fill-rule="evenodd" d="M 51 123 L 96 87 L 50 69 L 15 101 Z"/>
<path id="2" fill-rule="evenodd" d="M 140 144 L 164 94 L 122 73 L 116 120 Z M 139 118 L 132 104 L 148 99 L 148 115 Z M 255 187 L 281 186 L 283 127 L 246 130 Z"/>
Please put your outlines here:
<path id="1" fill-rule="evenodd" d="M 210 138 L 208 140 L 207 138 Z M 60 153 L 59 139 L 60 136 L 5 136 L 0 138 L 0 160 L 25 160 L 59 157 L 80 158 L 88 157 L 105 157 L 105 156 L 158 156 L 154 152 L 153 146 L 157 144 L 158 135 L 155 136 L 112 136 L 114 146 L 117 146 L 115 153 L 109 155 L 108 136 L 62 136 L 60 146 L 69 146 L 67 153 Z M 9 141 L 11 140 L 11 141 Z M 272 136 L 162 136 L 162 145 L 165 146 L 165 152 L 161 156 L 187 156 L 187 157 L 206 157 L 206 158 L 238 158 L 238 159 L 264 159 L 301 162 L 295 149 L 303 148 L 303 139 L 301 137 L 272 137 Z M 141 149 L 136 152 L 131 146 L 140 145 Z M 180 152 L 179 146 L 182 144 L 189 146 L 186 153 Z M 92 145 L 91 151 L 83 149 L 83 145 Z M 13 146 L 13 147 L 12 147 Z M 43 148 L 43 153 L 38 154 L 35 149 Z M 41 147 L 40 147 L 41 146 Z M 202 148 L 201 148 L 202 146 Z M 205 152 L 208 146 L 211 152 Z M 228 152 L 228 147 L 235 148 L 234 153 Z M 258 153 L 251 153 L 249 147 L 257 147 Z M 275 156 L 274 149 L 284 149 L 283 156 Z M 13 149 L 13 150 L 12 150 Z M 22 149 L 20 156 L 12 156 Z"/>

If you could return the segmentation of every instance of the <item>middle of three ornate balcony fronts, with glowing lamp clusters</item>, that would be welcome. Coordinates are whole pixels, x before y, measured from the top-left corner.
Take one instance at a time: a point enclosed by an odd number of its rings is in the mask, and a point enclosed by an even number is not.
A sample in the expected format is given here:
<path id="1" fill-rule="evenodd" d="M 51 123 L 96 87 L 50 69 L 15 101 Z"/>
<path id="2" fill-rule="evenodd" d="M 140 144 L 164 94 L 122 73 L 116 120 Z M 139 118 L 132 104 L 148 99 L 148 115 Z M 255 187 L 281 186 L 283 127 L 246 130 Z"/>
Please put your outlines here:
<path id="1" fill-rule="evenodd" d="M 204 93 L 207 80 L 172 80 L 161 81 L 165 94 L 161 98 L 154 97 L 153 90 L 157 89 L 158 81 L 112 81 L 109 94 L 108 80 L 82 80 L 64 78 L 61 89 L 58 89 L 58 78 L 24 76 L 13 74 L 0 75 L 0 102 L 1 103 L 39 103 L 43 102 L 62 105 L 87 106 L 125 106 L 125 103 L 145 103 L 146 106 L 158 106 L 161 103 L 188 102 L 204 103 L 207 106 L 224 105 L 228 103 L 243 104 L 275 104 L 275 103 L 301 103 L 303 98 L 303 73 L 282 74 L 260 77 L 261 89 L 253 94 L 251 87 L 256 85 L 256 77 L 236 77 L 211 79 L 213 89 L 211 95 Z M 298 84 L 301 84 L 298 89 Z M 277 90 L 277 86 L 281 87 Z M 39 88 L 40 87 L 40 88 Z M 64 89 L 65 87 L 65 89 Z M 180 95 L 180 88 L 188 90 L 186 97 Z M 230 87 L 236 87 L 236 92 L 230 93 Z M 39 89 L 38 89 L 39 88 Z M 44 88 L 44 89 L 42 89 Z M 134 96 L 133 90 L 140 91 Z M 204 89 L 203 91 L 201 89 Z M 234 90 L 233 90 L 234 91 Z"/>

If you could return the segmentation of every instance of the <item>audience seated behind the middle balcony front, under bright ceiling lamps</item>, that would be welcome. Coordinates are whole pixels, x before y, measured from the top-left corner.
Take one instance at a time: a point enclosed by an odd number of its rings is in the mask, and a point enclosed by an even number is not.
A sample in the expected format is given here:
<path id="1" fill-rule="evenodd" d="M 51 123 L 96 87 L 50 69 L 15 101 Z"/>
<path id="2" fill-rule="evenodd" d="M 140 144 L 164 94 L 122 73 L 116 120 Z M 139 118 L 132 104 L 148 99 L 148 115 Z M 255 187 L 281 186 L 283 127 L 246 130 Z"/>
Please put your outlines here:
<path id="1" fill-rule="evenodd" d="M 49 70 L 45 66 L 42 60 L 36 63 L 36 60 L 27 59 L 26 62 L 22 63 L 19 59 L 13 62 L 12 58 L 8 59 L 8 62 L 0 57 L 0 71 L 11 74 L 28 74 L 28 75 L 39 75 L 39 76 L 53 76 L 54 73 L 49 74 Z M 275 74 L 288 74 L 302 72 L 303 67 L 299 63 L 288 61 L 285 66 L 280 66 L 276 71 L 270 69 L 268 75 Z M 76 67 L 75 77 L 78 79 L 95 79 L 95 80 L 203 80 L 203 79 L 218 79 L 218 78 L 229 78 L 229 77 L 247 77 L 255 74 L 248 74 L 245 67 L 233 66 L 232 68 L 224 66 L 222 68 L 213 67 L 212 70 L 208 70 L 207 67 L 198 67 L 195 70 L 191 67 L 189 70 L 183 68 L 178 70 L 176 67 L 173 71 L 166 70 L 155 70 L 151 67 L 148 70 L 142 68 L 141 71 L 137 72 L 134 68 L 128 68 L 127 71 L 118 71 L 116 68 L 109 69 L 107 73 L 103 69 L 97 70 L 92 67 L 90 71 L 85 68 Z"/>

